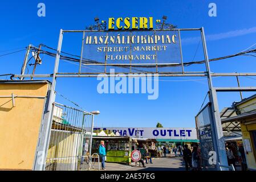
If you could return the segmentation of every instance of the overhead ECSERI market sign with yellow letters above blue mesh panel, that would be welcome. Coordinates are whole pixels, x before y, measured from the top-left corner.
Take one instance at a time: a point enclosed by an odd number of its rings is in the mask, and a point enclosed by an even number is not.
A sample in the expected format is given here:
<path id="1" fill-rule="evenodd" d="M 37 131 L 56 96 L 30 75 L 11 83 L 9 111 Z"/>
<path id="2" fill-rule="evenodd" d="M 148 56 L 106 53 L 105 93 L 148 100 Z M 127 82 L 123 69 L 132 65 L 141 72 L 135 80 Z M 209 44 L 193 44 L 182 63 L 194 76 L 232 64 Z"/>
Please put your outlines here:
<path id="1" fill-rule="evenodd" d="M 108 30 L 84 34 L 86 72 L 109 73 L 111 68 L 116 73 L 182 72 L 181 57 L 179 32 L 153 30 L 152 17 L 109 18 Z"/>

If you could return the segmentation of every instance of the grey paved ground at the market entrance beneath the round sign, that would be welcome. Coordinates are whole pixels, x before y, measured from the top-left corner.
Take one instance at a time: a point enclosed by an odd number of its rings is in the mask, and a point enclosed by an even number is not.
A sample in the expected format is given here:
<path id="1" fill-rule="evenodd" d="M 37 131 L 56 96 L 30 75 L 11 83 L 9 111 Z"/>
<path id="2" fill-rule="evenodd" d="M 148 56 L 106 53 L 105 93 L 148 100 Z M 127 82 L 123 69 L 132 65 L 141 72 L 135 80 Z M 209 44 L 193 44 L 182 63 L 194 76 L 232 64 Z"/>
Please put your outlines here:
<path id="1" fill-rule="evenodd" d="M 185 171 L 185 164 L 182 158 L 156 158 L 152 159 L 153 164 L 145 164 L 146 168 L 117 163 L 105 163 L 107 171 Z"/>

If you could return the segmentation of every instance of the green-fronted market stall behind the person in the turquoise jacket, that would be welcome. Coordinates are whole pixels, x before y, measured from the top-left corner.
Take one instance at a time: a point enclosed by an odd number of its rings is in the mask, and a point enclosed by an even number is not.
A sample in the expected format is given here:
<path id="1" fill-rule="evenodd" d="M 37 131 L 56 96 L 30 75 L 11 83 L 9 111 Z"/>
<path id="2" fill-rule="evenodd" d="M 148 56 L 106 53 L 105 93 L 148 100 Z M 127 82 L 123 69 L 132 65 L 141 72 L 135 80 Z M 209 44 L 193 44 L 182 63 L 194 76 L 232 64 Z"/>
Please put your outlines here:
<path id="1" fill-rule="evenodd" d="M 99 152 L 100 141 L 104 140 L 107 150 L 106 162 L 131 163 L 132 138 L 130 137 L 93 137 L 92 153 Z"/>

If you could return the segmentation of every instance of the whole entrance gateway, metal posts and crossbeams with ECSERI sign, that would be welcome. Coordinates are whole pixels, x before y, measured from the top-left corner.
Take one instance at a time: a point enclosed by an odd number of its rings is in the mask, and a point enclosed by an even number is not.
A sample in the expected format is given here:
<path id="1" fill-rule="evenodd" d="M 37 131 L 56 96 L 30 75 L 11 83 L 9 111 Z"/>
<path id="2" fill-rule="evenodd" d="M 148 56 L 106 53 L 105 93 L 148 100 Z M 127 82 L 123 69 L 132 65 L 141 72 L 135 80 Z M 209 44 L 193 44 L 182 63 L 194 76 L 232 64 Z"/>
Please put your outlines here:
<path id="1" fill-rule="evenodd" d="M 133 75 L 133 73 L 140 73 L 139 76 L 146 76 L 147 73 L 155 73 L 159 77 L 206 77 L 208 79 L 210 101 L 207 107 L 209 108 L 207 114 L 209 115 L 208 118 L 211 118 L 208 129 L 210 128 L 212 134 L 210 143 L 212 143 L 213 150 L 216 151 L 217 155 L 217 162 L 214 164 L 214 167 L 216 170 L 220 170 L 221 166 L 227 166 L 217 92 L 247 92 L 256 91 L 256 88 L 215 88 L 213 86 L 212 77 L 256 76 L 256 73 L 212 73 L 210 71 L 204 27 L 176 28 L 172 24 L 166 23 L 166 16 L 164 16 L 162 22 L 161 20 L 156 19 L 156 29 L 153 29 L 153 21 L 154 19 L 152 17 L 109 18 L 107 23 L 107 21 L 100 22 L 98 18 L 95 18 L 96 24 L 88 27 L 86 30 L 60 30 L 55 67 L 52 74 L 26 75 L 25 65 L 27 62 L 25 60 L 25 63 L 23 63 L 22 74 L 14 75 L 13 77 L 21 79 L 25 77 L 52 77 L 48 107 L 46 114 L 44 114 L 43 117 L 40 140 L 38 147 L 36 148 L 37 152 L 34 170 L 44 170 L 46 167 L 46 156 L 51 136 L 52 113 L 55 103 L 55 86 L 57 78 L 97 77 L 100 73 L 104 73 L 109 77 L 118 77 L 120 73 L 123 73 L 122 76 L 125 75 L 129 77 L 138 76 L 138 74 Z M 183 31 L 200 32 L 205 57 L 204 63 L 206 69 L 204 71 L 186 72 L 184 70 L 181 44 L 181 32 Z M 82 48 L 79 69 L 77 72 L 62 73 L 58 71 L 64 34 L 81 34 Z M 115 74 L 111 74 L 111 69 L 115 69 Z M 200 117 L 200 114 L 198 117 Z M 204 117 L 206 117 L 206 115 L 204 115 Z M 197 121 L 199 121 L 199 119 L 204 119 L 204 117 L 198 118 Z M 201 145 L 202 144 L 204 145 L 205 142 L 202 142 Z M 207 146 L 201 147 L 203 148 Z"/>

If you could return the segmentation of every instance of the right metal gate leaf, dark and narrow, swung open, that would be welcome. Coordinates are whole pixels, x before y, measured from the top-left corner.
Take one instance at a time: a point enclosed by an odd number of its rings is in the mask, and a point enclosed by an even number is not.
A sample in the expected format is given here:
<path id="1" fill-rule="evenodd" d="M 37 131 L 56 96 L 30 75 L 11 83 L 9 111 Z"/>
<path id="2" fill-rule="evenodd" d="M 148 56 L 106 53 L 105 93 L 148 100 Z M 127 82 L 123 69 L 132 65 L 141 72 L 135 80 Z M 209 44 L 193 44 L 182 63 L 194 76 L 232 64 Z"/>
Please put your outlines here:
<path id="1" fill-rule="evenodd" d="M 201 165 L 204 170 L 216 170 L 216 164 L 209 163 L 209 152 L 214 150 L 213 144 L 213 122 L 210 103 L 208 103 L 196 116 L 197 135 L 201 146 Z"/>

